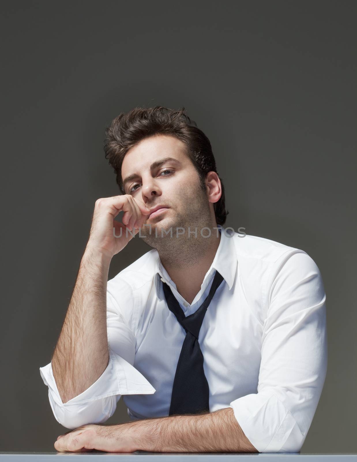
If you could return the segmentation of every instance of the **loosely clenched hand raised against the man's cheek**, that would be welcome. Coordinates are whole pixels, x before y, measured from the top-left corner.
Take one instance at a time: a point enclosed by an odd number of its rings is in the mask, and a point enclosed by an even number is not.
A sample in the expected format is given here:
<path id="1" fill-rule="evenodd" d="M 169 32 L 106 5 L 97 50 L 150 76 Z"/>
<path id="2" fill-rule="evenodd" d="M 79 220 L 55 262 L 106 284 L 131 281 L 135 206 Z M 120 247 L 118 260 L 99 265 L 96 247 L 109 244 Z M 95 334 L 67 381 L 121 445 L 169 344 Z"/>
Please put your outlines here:
<path id="1" fill-rule="evenodd" d="M 119 223 L 114 218 L 122 210 L 123 223 Z M 97 199 L 87 249 L 99 251 L 112 258 L 137 234 L 149 215 L 150 211 L 143 201 L 134 199 L 129 194 Z M 120 236 L 121 232 L 120 237 L 114 236 L 113 228 L 116 236 Z M 126 232 L 126 228 L 131 232 Z"/>

